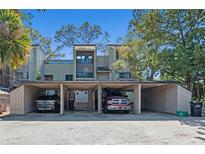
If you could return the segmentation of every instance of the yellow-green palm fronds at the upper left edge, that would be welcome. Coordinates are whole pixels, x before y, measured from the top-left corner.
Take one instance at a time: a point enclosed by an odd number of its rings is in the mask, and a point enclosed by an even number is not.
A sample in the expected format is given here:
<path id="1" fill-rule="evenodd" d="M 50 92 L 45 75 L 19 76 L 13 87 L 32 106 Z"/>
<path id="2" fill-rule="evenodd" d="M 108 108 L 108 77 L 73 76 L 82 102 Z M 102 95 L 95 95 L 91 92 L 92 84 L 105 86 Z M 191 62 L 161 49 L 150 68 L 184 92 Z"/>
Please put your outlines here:
<path id="1" fill-rule="evenodd" d="M 0 64 L 17 69 L 28 59 L 29 30 L 15 10 L 0 10 Z"/>

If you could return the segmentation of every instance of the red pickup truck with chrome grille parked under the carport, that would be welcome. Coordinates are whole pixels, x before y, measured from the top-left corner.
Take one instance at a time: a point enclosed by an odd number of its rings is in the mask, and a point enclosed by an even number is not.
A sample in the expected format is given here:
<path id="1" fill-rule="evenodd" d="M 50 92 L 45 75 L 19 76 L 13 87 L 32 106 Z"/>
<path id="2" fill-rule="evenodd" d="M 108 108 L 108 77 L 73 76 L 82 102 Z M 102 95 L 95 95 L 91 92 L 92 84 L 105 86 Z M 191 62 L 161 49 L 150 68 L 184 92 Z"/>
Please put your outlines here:
<path id="1" fill-rule="evenodd" d="M 106 97 L 103 103 L 103 112 L 123 111 L 129 113 L 131 110 L 130 101 L 124 96 L 109 96 Z"/>

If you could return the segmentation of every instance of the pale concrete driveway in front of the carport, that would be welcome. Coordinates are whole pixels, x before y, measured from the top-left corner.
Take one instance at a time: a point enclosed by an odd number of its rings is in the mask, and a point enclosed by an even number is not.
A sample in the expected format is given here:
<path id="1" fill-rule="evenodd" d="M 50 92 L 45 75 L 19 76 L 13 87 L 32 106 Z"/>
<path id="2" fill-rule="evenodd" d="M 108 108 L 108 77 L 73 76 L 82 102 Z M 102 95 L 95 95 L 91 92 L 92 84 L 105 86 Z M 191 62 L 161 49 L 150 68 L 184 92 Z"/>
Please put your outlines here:
<path id="1" fill-rule="evenodd" d="M 0 144 L 205 144 L 205 117 L 76 112 L 0 118 Z"/>

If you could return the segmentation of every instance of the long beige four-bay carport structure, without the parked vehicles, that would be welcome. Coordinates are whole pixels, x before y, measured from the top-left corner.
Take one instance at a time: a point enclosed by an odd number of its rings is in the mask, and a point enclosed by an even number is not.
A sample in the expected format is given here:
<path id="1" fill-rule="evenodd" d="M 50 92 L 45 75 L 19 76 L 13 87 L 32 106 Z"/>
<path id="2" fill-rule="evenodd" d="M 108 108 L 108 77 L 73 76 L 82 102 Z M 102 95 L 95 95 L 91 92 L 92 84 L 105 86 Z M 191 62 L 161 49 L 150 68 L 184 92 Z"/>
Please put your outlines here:
<path id="1" fill-rule="evenodd" d="M 56 89 L 60 96 L 60 114 L 65 113 L 67 94 L 73 90 L 88 90 L 88 107 L 102 113 L 102 91 L 104 88 L 129 90 L 133 93 L 133 112 L 143 110 L 175 114 L 190 111 L 191 93 L 177 83 L 139 81 L 33 81 L 23 83 L 10 93 L 11 114 L 33 112 L 34 101 L 42 90 Z M 95 95 L 96 94 L 96 95 Z M 97 97 L 95 97 L 97 96 Z M 97 99 L 97 100 L 95 100 Z"/>

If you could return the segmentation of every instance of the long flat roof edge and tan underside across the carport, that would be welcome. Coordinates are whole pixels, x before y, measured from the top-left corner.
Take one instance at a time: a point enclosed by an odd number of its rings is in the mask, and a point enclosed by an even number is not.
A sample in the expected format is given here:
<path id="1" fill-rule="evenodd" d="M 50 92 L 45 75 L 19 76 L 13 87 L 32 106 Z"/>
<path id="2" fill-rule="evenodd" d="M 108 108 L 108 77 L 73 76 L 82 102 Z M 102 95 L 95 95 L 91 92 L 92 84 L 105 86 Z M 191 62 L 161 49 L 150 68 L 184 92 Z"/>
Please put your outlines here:
<path id="1" fill-rule="evenodd" d="M 63 84 L 68 90 L 91 90 L 96 89 L 98 85 L 102 88 L 113 89 L 133 89 L 134 86 L 141 84 L 142 89 L 154 88 L 159 86 L 176 85 L 177 82 L 158 82 L 158 81 L 30 81 L 21 85 L 33 86 L 41 89 L 59 89 Z"/>

